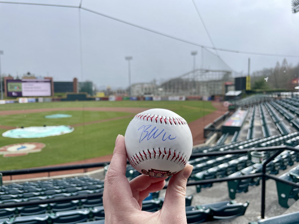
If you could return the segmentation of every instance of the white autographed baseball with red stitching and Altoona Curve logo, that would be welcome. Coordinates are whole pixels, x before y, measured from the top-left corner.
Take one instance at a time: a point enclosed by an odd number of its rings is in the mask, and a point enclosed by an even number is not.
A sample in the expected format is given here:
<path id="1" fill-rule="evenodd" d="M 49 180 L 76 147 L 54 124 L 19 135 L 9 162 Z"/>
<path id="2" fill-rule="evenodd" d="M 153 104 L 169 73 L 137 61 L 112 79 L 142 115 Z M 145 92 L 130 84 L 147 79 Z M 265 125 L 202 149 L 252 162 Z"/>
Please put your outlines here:
<path id="1" fill-rule="evenodd" d="M 138 113 L 125 134 L 127 157 L 140 173 L 168 177 L 181 171 L 192 153 L 192 134 L 184 118 L 165 109 Z"/>

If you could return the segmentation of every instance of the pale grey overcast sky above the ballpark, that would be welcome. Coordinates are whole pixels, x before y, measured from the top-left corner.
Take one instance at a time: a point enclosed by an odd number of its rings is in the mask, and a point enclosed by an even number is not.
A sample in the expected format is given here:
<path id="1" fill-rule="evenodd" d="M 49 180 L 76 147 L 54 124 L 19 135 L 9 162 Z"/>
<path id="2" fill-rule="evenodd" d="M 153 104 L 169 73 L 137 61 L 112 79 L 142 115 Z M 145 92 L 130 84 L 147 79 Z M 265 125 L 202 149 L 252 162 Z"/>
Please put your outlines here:
<path id="1" fill-rule="evenodd" d="M 78 6 L 80 1 L 19 2 Z M 195 0 L 215 47 L 299 57 L 299 12 L 291 0 Z M 192 0 L 83 0 L 82 7 L 122 19 L 200 45 L 212 46 Z M 54 81 L 93 81 L 97 87 L 128 87 L 128 63 L 132 56 L 132 83 L 158 82 L 193 69 L 192 50 L 201 47 L 170 39 L 81 10 L 83 73 L 80 67 L 78 8 L 0 3 L 2 73 L 12 76 L 30 71 L 52 76 Z M 212 51 L 216 53 L 215 51 Z M 204 50 L 204 67 L 247 74 L 274 67 L 283 57 L 218 51 L 226 66 Z M 297 65 L 299 58 L 286 58 Z"/>

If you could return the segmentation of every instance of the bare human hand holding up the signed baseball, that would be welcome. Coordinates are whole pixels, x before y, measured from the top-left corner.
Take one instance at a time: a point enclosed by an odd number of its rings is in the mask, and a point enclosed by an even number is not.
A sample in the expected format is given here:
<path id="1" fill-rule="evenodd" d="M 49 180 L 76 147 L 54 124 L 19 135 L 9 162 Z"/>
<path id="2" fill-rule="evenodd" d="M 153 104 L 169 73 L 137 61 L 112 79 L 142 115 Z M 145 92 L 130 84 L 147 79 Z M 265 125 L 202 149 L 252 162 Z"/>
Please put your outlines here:
<path id="1" fill-rule="evenodd" d="M 124 137 L 118 135 L 104 181 L 105 223 L 187 223 L 186 183 L 193 166 L 188 164 L 182 171 L 170 178 L 161 210 L 152 213 L 141 211 L 142 201 L 150 192 L 160 191 L 167 177 L 155 178 L 140 175 L 129 182 L 126 178 L 126 159 Z"/>

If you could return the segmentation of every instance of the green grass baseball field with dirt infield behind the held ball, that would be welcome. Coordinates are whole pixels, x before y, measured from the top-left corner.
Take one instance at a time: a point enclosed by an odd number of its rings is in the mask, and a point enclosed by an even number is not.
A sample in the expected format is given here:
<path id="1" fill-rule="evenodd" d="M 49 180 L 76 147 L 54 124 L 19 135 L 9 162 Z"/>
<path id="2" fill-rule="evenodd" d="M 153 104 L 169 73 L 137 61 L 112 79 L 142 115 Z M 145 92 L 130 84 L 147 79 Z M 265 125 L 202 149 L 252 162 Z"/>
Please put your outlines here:
<path id="1" fill-rule="evenodd" d="M 23 142 L 42 142 L 46 145 L 41 152 L 26 156 L 0 155 L 0 170 L 54 165 L 112 154 L 116 136 L 125 134 L 126 127 L 135 114 L 150 108 L 164 108 L 178 113 L 186 119 L 189 126 L 193 126 L 190 127 L 191 131 L 195 130 L 193 132 L 204 128 L 204 124 L 195 123 L 199 118 L 216 110 L 211 102 L 203 101 L 72 101 L 0 105 L 0 148 Z M 72 117 L 44 118 L 45 115 L 55 113 L 71 114 Z M 74 127 L 74 131 L 34 139 L 2 136 L 3 132 L 16 127 L 43 125 L 70 125 Z"/>

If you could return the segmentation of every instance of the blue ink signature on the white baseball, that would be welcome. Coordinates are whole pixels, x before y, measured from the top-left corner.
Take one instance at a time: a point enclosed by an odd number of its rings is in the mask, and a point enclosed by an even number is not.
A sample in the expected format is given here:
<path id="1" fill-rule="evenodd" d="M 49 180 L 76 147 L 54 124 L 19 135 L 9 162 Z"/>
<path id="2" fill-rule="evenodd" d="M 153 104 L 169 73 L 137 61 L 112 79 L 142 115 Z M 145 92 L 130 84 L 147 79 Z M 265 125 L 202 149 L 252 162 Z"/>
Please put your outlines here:
<path id="1" fill-rule="evenodd" d="M 138 128 L 138 131 L 142 130 L 139 143 L 142 142 L 144 139 L 148 141 L 149 139 L 151 138 L 155 139 L 158 136 L 162 137 L 163 141 L 166 141 L 167 139 L 173 140 L 176 138 L 176 136 L 171 137 L 171 134 L 167 136 L 167 133 L 164 129 L 162 131 L 159 131 L 158 128 L 156 127 L 151 128 L 151 127 L 152 125 L 142 125 L 140 128 Z"/>

